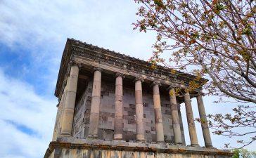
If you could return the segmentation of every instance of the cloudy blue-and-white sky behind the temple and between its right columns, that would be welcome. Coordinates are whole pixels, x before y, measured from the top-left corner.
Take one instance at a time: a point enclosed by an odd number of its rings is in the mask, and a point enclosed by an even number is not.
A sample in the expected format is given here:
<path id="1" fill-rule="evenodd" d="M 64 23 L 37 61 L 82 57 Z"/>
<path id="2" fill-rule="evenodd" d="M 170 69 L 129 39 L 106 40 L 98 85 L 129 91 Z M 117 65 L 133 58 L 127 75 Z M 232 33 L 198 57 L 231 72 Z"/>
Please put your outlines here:
<path id="1" fill-rule="evenodd" d="M 0 0 L 0 157 L 43 157 L 51 141 L 57 98 L 53 95 L 67 38 L 74 38 L 148 60 L 153 32 L 134 31 L 134 1 Z M 213 104 L 205 96 L 206 112 L 231 110 L 233 104 Z M 192 100 L 194 117 L 199 117 Z M 184 106 L 181 107 L 189 144 Z M 203 145 L 200 124 L 198 140 Z M 236 141 L 212 135 L 215 147 Z M 256 149 L 256 143 L 247 147 Z"/>

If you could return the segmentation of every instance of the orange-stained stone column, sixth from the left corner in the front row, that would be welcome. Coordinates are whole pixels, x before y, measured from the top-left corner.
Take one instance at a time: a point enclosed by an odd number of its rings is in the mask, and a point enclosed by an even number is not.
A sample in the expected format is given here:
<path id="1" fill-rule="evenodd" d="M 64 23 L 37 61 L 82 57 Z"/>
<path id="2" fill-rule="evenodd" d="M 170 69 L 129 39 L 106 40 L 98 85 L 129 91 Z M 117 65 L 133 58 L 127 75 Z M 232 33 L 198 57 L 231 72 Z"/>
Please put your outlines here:
<path id="1" fill-rule="evenodd" d="M 171 114 L 172 114 L 172 128 L 174 133 L 174 143 L 182 144 L 181 138 L 181 126 L 179 121 L 179 112 L 178 105 L 176 100 L 175 89 L 169 87 L 169 104 L 171 105 Z"/>

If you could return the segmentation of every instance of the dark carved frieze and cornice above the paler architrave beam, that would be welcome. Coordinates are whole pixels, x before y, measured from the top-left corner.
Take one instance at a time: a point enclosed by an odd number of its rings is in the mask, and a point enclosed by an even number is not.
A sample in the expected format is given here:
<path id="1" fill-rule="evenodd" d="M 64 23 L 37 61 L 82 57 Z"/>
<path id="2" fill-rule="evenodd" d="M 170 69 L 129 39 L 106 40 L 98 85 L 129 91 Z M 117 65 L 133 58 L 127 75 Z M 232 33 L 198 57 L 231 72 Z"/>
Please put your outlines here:
<path id="1" fill-rule="evenodd" d="M 137 58 L 130 57 L 129 55 L 117 53 L 115 51 L 109 51 L 105 48 L 99 48 L 98 46 L 86 44 L 75 39 L 68 39 L 65 45 L 65 50 L 63 52 L 58 74 L 58 81 L 55 91 L 55 95 L 57 97 L 60 96 L 60 93 L 65 86 L 63 82 L 67 78 L 67 71 L 70 69 L 68 63 L 73 55 L 89 58 L 91 60 L 95 60 L 96 62 L 105 62 L 110 65 L 115 65 L 120 67 L 122 70 L 127 70 L 128 72 L 139 72 L 139 74 L 144 74 L 149 77 L 166 79 L 170 81 L 175 80 L 176 83 L 181 83 L 184 85 L 188 85 L 188 82 L 195 78 L 195 76 L 191 74 L 186 74 L 179 71 L 174 74 L 170 71 L 169 68 L 162 67 L 160 65 L 157 65 L 156 68 L 153 68 L 151 67 L 152 64 L 150 62 L 139 60 Z M 204 80 L 205 79 L 203 79 L 203 81 Z"/>

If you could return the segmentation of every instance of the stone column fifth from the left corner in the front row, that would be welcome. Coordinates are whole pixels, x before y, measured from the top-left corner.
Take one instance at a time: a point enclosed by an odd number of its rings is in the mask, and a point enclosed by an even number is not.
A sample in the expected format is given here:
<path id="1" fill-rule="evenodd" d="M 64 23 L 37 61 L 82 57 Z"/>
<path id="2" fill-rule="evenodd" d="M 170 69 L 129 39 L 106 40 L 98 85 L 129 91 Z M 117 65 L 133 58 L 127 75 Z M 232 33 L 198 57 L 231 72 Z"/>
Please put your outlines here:
<path id="1" fill-rule="evenodd" d="M 153 83 L 153 102 L 155 112 L 156 141 L 165 142 L 164 129 L 162 127 L 162 112 L 160 103 L 159 83 Z"/>

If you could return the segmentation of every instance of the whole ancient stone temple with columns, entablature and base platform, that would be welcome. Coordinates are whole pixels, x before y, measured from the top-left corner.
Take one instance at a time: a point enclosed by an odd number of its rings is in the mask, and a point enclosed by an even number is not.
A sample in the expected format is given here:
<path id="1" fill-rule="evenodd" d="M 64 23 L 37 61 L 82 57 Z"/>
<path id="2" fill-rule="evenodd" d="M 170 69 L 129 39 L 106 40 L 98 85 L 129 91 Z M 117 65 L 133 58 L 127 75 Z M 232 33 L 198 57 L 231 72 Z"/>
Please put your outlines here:
<path id="1" fill-rule="evenodd" d="M 195 77 L 68 39 L 55 96 L 58 112 L 45 158 L 226 158 L 212 147 L 201 88 L 184 89 Z M 204 79 L 203 79 L 204 80 Z M 176 95 L 179 88 L 181 95 Z M 196 97 L 198 107 L 191 106 Z M 189 133 L 180 104 L 185 103 Z M 198 108 L 205 146 L 198 145 Z M 190 145 L 184 135 L 189 134 Z"/>

